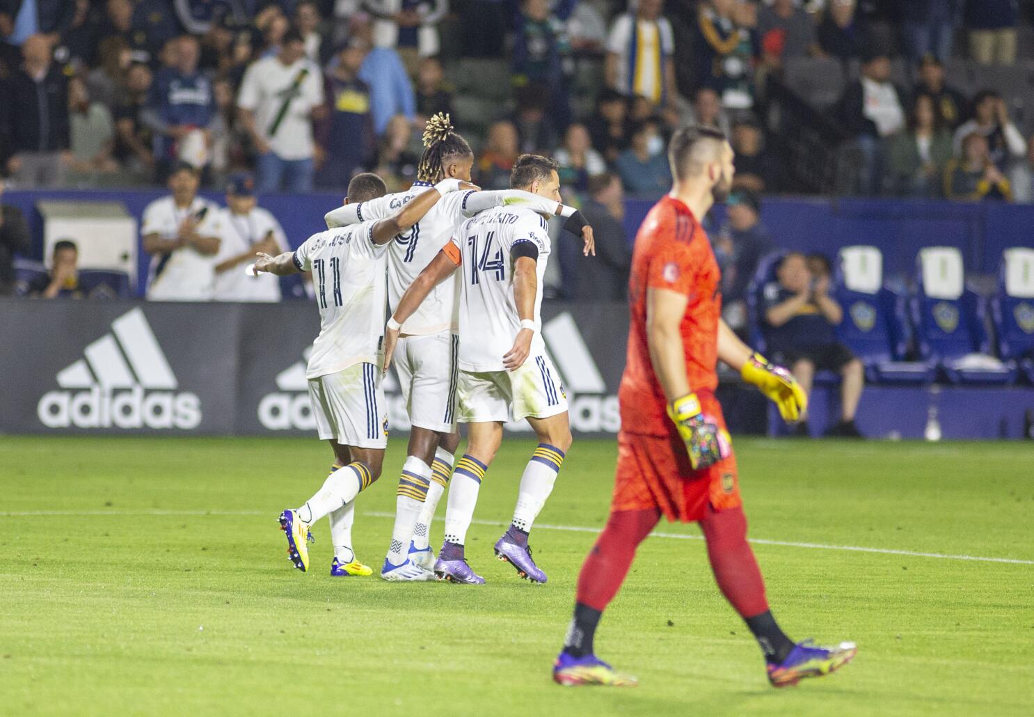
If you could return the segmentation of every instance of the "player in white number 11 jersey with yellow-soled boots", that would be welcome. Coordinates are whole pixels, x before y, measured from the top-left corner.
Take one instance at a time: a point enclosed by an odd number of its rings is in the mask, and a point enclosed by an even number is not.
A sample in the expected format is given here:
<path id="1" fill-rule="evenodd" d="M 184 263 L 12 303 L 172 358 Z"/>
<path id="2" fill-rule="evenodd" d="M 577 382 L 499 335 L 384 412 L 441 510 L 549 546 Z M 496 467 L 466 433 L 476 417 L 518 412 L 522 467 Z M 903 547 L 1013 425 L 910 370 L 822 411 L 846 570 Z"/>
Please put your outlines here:
<path id="1" fill-rule="evenodd" d="M 388 243 L 409 231 L 446 193 L 461 187 L 447 179 L 426 188 L 385 219 L 331 229 L 309 237 L 297 251 L 277 257 L 258 255 L 254 272 L 278 276 L 312 271 L 320 335 L 312 343 L 306 377 L 320 438 L 330 441 L 336 462 L 323 487 L 301 508 L 280 513 L 287 555 L 299 570 L 308 570 L 310 527 L 330 515 L 334 542 L 332 575 L 369 575 L 356 560 L 352 524 L 356 496 L 379 476 L 388 445 L 388 416 L 377 354 L 384 329 Z M 383 197 L 384 181 L 361 174 L 348 183 L 346 201 Z M 423 579 L 433 575 L 423 570 Z"/>

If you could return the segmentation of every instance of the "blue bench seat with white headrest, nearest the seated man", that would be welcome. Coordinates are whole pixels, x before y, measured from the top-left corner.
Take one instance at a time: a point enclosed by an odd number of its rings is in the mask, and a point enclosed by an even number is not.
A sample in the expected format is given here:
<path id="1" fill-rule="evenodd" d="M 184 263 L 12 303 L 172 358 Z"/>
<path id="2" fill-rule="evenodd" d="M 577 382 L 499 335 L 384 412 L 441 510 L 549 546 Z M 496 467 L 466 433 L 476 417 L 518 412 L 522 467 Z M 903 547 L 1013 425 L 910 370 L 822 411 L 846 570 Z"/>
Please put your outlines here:
<path id="1" fill-rule="evenodd" d="M 838 337 L 865 365 L 871 383 L 926 384 L 929 362 L 904 361 L 905 300 L 883 286 L 883 253 L 875 246 L 845 246 L 837 263 L 837 300 L 844 320 Z"/>

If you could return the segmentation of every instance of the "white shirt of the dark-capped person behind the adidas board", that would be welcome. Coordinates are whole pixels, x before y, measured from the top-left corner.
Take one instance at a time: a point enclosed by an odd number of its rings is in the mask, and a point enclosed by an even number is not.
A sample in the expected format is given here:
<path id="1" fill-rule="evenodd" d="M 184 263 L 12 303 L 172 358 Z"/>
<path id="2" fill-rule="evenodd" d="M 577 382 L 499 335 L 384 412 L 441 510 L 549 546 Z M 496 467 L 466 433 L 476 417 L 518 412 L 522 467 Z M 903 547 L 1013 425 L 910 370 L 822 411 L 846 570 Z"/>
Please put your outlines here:
<path id="1" fill-rule="evenodd" d="M 255 207 L 247 214 L 234 214 L 229 207 L 220 209 L 219 228 L 222 233 L 219 235 L 219 253 L 215 257 L 216 266 L 244 253 L 271 232 L 280 247 L 279 251 L 287 245 L 280 222 L 262 207 Z M 217 273 L 212 298 L 216 301 L 279 301 L 280 277 L 267 273 L 248 276 L 244 273 L 245 266 L 247 264 L 238 264 Z"/>

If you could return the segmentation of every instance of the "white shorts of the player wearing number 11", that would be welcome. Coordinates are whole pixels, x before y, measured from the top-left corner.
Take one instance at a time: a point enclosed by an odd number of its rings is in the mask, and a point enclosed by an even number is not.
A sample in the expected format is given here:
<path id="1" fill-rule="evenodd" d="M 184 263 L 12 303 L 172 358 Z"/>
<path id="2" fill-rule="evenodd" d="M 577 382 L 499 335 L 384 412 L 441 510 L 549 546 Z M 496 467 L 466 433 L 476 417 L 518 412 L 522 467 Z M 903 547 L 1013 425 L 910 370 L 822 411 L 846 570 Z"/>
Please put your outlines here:
<path id="1" fill-rule="evenodd" d="M 356 448 L 388 447 L 388 401 L 381 376 L 372 363 L 357 363 L 309 379 L 312 415 L 322 440 Z"/>

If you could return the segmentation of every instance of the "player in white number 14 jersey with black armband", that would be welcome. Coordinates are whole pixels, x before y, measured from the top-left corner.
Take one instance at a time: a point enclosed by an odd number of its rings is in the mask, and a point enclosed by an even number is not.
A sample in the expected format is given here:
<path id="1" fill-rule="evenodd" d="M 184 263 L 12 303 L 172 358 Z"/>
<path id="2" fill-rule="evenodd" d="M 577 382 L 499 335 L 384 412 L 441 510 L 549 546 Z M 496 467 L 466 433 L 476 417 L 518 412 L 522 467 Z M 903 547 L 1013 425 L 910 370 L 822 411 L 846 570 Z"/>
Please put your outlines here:
<path id="1" fill-rule="evenodd" d="M 518 157 L 510 186 L 559 202 L 556 162 L 530 154 Z M 590 238 L 584 250 L 591 251 Z M 467 424 L 467 452 L 457 461 L 458 482 L 449 489 L 445 544 L 434 563 L 442 579 L 484 584 L 466 563 L 466 531 L 481 481 L 503 441 L 503 424 L 526 418 L 539 447 L 521 476 L 513 522 L 495 543 L 495 555 L 521 577 L 546 581 L 546 573 L 531 560 L 527 536 L 571 446 L 567 396 L 540 335 L 542 277 L 549 253 L 542 214 L 519 206 L 483 211 L 456 230 L 398 300 L 388 322 L 386 369 L 396 349 L 402 349 L 402 325 L 436 288 L 459 275 L 457 417 Z"/>

